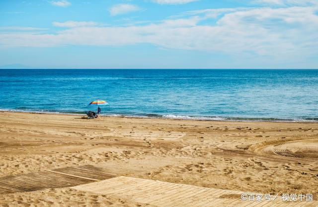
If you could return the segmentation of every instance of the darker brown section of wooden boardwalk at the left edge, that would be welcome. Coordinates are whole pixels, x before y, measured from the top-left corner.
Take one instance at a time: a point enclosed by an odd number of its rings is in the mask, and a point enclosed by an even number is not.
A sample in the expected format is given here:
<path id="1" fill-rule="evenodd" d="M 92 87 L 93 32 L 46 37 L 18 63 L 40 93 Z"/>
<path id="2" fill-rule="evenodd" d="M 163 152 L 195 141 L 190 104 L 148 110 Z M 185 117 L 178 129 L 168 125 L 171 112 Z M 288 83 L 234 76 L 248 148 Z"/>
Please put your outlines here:
<path id="1" fill-rule="evenodd" d="M 0 177 L 0 194 L 37 191 L 47 188 L 64 188 L 105 180 L 121 175 L 145 173 L 114 165 L 83 165 L 45 170 L 17 176 Z"/>

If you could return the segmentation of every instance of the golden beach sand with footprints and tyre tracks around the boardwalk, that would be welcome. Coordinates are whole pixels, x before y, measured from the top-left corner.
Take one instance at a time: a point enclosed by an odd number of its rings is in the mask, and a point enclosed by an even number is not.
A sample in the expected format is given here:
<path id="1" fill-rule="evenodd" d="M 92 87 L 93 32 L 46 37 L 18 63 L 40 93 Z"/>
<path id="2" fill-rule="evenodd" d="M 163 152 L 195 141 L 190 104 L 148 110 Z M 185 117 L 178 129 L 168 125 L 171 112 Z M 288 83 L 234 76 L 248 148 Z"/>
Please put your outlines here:
<path id="1" fill-rule="evenodd" d="M 0 177 L 111 164 L 131 177 L 318 200 L 318 123 L 0 112 Z M 0 186 L 1 188 L 1 186 Z M 0 194 L 0 206 L 145 206 L 69 187 Z"/>

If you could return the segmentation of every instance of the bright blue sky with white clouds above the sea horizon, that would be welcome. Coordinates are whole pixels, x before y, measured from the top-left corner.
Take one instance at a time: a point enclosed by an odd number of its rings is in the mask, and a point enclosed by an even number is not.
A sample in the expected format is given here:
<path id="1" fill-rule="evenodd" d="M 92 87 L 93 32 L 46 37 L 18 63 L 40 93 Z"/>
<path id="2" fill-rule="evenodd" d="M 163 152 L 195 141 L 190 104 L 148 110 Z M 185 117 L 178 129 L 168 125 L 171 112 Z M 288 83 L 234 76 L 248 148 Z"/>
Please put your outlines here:
<path id="1" fill-rule="evenodd" d="M 0 0 L 0 67 L 318 68 L 318 0 Z"/>

